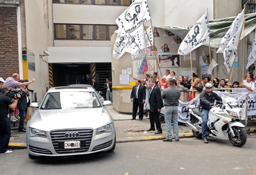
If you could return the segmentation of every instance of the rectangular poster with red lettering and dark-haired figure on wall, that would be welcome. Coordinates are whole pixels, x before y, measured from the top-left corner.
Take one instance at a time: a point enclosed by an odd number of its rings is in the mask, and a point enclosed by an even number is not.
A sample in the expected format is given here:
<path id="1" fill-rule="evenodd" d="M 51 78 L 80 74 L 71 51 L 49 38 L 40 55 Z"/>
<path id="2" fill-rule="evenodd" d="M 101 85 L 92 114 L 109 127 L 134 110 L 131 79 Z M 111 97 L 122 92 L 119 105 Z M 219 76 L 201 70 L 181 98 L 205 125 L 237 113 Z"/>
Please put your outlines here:
<path id="1" fill-rule="evenodd" d="M 160 55 L 159 65 L 162 67 L 180 67 L 180 55 Z"/>

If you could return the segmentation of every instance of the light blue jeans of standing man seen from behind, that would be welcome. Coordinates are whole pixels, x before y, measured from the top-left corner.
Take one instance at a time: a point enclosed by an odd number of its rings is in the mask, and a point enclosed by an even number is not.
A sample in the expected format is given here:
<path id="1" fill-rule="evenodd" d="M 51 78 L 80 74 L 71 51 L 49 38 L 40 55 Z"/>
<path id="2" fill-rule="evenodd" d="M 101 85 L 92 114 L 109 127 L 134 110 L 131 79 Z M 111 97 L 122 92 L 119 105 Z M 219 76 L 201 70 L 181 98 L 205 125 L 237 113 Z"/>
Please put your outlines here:
<path id="1" fill-rule="evenodd" d="M 164 118 L 166 119 L 167 138 L 172 139 L 173 130 L 175 139 L 179 139 L 178 107 L 166 106 L 165 108 L 166 112 L 164 113 Z"/>

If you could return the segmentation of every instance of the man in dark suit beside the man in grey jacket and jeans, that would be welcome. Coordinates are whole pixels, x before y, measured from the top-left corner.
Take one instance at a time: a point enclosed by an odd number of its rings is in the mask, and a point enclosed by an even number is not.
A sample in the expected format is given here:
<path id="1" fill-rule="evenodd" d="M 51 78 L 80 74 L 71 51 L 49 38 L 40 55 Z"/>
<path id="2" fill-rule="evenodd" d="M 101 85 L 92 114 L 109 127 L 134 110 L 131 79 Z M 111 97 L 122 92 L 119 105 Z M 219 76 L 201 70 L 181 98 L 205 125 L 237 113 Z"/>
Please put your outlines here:
<path id="1" fill-rule="evenodd" d="M 160 111 L 163 106 L 163 100 L 161 97 L 161 91 L 156 85 L 156 79 L 151 78 L 150 79 L 150 95 L 148 97 L 148 103 L 150 104 L 150 128 L 147 131 L 155 131 L 155 126 L 156 129 L 158 130 L 155 132 L 155 134 L 162 134 L 162 128 L 161 128 L 161 123 L 160 123 Z"/>

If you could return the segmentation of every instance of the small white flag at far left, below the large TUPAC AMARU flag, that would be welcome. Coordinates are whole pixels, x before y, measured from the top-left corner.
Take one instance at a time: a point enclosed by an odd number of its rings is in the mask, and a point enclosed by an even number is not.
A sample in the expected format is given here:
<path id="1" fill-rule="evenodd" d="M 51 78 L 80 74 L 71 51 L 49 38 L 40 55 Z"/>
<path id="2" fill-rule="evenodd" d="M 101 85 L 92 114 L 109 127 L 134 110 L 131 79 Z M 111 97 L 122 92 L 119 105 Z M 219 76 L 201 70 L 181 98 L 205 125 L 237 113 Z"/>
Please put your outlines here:
<path id="1" fill-rule="evenodd" d="M 129 43 L 129 37 L 126 34 L 122 35 L 121 33 L 117 34 L 115 39 L 115 44 L 113 48 L 113 58 L 119 59 L 123 53 L 125 53 L 126 45 Z"/>

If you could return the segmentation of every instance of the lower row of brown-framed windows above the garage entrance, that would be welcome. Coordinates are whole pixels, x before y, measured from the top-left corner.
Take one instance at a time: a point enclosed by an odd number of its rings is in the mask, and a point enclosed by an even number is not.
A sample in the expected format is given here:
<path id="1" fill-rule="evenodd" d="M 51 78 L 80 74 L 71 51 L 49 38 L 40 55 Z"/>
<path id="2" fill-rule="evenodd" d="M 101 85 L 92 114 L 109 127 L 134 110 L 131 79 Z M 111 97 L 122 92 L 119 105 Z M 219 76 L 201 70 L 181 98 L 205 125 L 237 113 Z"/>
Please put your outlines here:
<path id="1" fill-rule="evenodd" d="M 55 39 L 110 40 L 118 26 L 92 24 L 54 24 Z M 68 26 L 68 29 L 66 30 Z M 69 35 L 67 35 L 69 34 Z"/>

